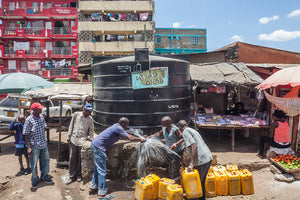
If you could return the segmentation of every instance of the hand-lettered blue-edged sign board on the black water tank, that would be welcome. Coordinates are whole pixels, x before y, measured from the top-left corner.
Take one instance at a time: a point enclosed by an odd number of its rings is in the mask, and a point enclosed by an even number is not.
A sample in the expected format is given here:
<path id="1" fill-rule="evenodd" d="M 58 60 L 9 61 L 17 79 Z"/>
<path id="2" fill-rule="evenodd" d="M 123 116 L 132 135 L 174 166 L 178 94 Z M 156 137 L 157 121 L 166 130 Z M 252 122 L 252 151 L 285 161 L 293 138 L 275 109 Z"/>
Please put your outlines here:
<path id="1" fill-rule="evenodd" d="M 132 88 L 158 88 L 168 85 L 168 67 L 157 67 L 147 71 L 132 72 Z"/>

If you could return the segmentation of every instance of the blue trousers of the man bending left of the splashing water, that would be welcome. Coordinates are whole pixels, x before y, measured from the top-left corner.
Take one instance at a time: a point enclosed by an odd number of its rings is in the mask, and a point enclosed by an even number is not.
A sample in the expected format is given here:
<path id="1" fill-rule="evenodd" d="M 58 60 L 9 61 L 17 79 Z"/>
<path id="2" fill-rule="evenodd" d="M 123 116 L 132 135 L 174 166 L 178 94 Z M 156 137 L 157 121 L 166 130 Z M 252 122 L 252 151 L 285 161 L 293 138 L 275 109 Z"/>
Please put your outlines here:
<path id="1" fill-rule="evenodd" d="M 94 174 L 90 188 L 97 189 L 98 195 L 107 194 L 106 184 L 106 153 L 91 144 L 91 150 L 94 157 Z"/>

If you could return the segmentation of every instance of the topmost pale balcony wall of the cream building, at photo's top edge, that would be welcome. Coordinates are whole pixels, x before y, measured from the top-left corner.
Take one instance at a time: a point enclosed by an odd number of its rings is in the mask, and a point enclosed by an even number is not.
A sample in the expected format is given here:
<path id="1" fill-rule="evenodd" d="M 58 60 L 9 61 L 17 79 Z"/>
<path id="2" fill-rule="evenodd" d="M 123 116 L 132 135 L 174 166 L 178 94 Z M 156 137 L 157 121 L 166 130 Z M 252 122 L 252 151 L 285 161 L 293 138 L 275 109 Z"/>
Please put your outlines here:
<path id="1" fill-rule="evenodd" d="M 154 2 L 145 1 L 80 1 L 81 12 L 153 12 Z"/>

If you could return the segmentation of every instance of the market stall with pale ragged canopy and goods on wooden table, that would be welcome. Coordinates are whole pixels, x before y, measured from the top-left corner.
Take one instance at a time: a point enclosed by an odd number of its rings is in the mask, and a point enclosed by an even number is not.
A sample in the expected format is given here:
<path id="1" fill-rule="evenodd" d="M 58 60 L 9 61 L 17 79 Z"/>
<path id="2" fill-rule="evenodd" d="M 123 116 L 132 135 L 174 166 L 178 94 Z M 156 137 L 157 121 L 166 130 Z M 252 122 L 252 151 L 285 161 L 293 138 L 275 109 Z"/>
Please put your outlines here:
<path id="1" fill-rule="evenodd" d="M 191 64 L 191 118 L 197 129 L 227 129 L 234 151 L 236 129 L 268 131 L 269 116 L 261 108 L 255 85 L 263 80 L 243 63 Z M 241 103 L 242 102 L 242 103 Z M 241 109 L 238 109 L 241 105 Z"/>

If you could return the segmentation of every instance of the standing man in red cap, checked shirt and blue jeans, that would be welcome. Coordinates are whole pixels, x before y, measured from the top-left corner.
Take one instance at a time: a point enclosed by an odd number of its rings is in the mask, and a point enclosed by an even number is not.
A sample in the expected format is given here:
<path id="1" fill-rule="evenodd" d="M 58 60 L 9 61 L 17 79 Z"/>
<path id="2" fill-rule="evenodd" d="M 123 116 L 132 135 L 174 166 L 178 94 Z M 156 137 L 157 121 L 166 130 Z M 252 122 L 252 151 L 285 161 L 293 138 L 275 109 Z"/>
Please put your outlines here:
<path id="1" fill-rule="evenodd" d="M 39 103 L 33 103 L 30 111 L 32 113 L 26 118 L 23 127 L 23 135 L 25 135 L 25 142 L 27 144 L 27 152 L 32 169 L 31 184 L 32 189 L 36 189 L 38 185 L 39 176 L 37 172 L 37 163 L 40 161 L 41 180 L 45 183 L 52 184 L 49 178 L 49 152 L 47 147 L 47 138 L 45 135 L 45 128 L 47 128 L 46 121 L 41 115 L 43 106 Z"/>

